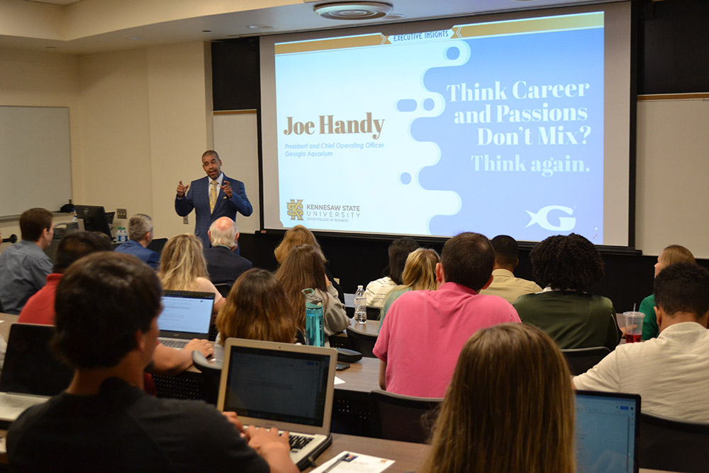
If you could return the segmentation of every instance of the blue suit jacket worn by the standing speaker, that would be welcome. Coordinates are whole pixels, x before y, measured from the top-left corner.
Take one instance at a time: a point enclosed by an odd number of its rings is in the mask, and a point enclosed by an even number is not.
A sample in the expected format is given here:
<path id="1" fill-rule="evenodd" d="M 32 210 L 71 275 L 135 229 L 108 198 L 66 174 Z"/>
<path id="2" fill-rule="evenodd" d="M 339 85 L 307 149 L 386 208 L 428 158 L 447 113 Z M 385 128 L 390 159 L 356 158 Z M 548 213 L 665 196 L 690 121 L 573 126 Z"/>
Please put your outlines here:
<path id="1" fill-rule="evenodd" d="M 236 221 L 237 212 L 247 217 L 254 211 L 249 198 L 246 196 L 244 183 L 236 179 L 231 179 L 224 174 L 223 182 L 228 181 L 233 191 L 231 199 L 227 199 L 224 191 L 219 189 L 217 203 L 214 206 L 214 211 L 210 213 L 209 194 L 207 191 L 210 180 L 208 176 L 205 176 L 202 179 L 192 181 L 191 184 L 189 184 L 189 189 L 187 189 L 187 194 L 185 194 L 182 199 L 178 199 L 177 196 L 175 196 L 175 211 L 177 215 L 184 217 L 194 208 L 194 234 L 197 238 L 202 240 L 202 244 L 205 248 L 209 247 L 207 230 L 209 230 L 209 226 L 213 221 L 221 217 L 229 217 L 233 221 Z"/>

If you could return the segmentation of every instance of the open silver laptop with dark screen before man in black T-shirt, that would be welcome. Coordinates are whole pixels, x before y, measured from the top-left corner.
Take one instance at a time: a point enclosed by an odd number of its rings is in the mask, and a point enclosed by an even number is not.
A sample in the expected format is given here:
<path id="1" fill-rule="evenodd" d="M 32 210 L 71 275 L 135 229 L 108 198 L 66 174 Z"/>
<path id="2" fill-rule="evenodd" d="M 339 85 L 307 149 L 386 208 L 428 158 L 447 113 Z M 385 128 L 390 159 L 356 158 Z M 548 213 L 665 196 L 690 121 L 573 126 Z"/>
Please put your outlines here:
<path id="1" fill-rule="evenodd" d="M 333 348 L 228 338 L 217 407 L 243 425 L 289 430 L 302 471 L 333 441 L 336 364 Z"/>

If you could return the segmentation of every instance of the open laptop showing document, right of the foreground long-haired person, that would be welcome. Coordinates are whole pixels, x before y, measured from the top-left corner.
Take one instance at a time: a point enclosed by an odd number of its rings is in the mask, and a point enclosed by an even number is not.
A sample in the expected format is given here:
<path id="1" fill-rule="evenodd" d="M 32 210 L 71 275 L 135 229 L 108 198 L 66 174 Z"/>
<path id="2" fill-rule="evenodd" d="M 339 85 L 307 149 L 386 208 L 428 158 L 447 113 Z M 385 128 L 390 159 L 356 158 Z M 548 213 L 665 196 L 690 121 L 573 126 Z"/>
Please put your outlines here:
<path id="1" fill-rule="evenodd" d="M 576 391 L 576 471 L 637 473 L 640 396 Z"/>

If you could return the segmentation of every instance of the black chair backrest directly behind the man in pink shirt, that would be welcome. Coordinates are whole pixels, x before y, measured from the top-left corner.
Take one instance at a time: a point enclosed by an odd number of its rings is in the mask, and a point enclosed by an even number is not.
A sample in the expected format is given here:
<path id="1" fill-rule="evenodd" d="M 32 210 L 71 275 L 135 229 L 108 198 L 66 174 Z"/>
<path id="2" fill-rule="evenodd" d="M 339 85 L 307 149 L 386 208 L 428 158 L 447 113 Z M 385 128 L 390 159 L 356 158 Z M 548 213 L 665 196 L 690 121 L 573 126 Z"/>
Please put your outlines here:
<path id="1" fill-rule="evenodd" d="M 437 408 L 443 399 L 369 392 L 372 434 L 377 438 L 425 443 L 431 435 Z"/>

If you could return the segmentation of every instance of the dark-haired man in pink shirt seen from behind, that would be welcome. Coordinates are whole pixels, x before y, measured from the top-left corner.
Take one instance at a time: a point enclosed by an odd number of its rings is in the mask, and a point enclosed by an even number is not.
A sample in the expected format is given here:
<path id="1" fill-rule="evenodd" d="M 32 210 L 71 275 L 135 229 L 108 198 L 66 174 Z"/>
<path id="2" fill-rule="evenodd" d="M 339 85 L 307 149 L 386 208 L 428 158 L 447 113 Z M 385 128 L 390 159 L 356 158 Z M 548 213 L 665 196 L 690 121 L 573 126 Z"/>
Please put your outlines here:
<path id="1" fill-rule="evenodd" d="M 386 313 L 374 355 L 381 389 L 407 396 L 443 397 L 470 335 L 519 322 L 508 301 L 479 294 L 492 282 L 495 252 L 484 235 L 448 240 L 436 265 L 437 291 L 409 291 Z"/>

